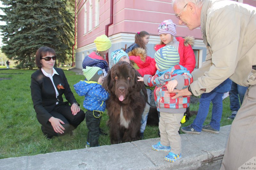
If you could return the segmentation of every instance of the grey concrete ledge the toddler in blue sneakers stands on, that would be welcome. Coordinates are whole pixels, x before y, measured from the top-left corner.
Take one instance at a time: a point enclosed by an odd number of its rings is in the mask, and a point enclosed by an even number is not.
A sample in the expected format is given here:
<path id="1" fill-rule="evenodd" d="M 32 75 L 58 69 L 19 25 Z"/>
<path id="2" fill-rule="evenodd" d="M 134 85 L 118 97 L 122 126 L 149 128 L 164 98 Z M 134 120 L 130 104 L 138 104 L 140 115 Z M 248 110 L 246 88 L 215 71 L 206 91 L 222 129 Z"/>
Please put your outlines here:
<path id="1" fill-rule="evenodd" d="M 153 151 L 160 138 L 88 149 L 0 159 L 0 169 L 220 169 L 231 125 L 220 134 L 182 134 L 182 158 L 164 160 L 168 152 Z"/>

